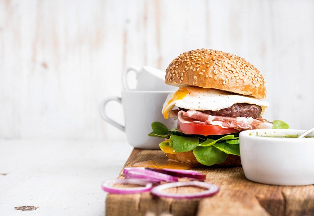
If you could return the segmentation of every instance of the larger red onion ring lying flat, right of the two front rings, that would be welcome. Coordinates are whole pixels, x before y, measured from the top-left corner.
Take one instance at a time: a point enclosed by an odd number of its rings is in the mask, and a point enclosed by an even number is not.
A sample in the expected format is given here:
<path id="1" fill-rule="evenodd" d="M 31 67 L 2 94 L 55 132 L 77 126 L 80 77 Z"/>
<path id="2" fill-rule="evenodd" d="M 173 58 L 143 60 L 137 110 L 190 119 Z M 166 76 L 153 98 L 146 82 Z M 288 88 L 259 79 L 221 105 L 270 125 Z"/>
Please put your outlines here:
<path id="1" fill-rule="evenodd" d="M 203 187 L 207 188 L 208 190 L 198 192 L 198 193 L 181 193 L 181 194 L 173 194 L 173 193 L 166 193 L 163 190 L 171 188 L 171 187 L 181 187 L 181 186 L 196 186 L 196 187 Z M 192 199 L 192 198 L 201 198 L 201 197 L 209 197 L 214 195 L 219 191 L 219 187 L 214 184 L 207 183 L 207 182 L 172 182 L 161 184 L 154 187 L 150 192 L 158 197 L 165 197 L 165 198 L 177 198 L 177 199 Z"/>

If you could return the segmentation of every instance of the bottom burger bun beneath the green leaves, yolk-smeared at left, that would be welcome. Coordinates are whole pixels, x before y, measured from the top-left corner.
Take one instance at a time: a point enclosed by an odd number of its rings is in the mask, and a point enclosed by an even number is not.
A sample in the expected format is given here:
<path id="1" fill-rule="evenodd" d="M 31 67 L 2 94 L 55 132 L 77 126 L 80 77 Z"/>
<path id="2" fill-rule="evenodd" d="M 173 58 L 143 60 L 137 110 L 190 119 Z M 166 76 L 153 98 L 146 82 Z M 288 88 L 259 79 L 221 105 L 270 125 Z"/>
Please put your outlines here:
<path id="1" fill-rule="evenodd" d="M 193 154 L 193 151 L 176 153 L 175 155 L 174 154 L 165 153 L 165 155 L 170 160 L 179 161 L 179 162 L 183 162 L 183 163 L 189 163 L 189 164 L 195 164 L 195 165 L 198 165 L 198 166 L 205 166 L 205 165 L 199 163 L 196 160 L 196 158 L 195 158 L 195 156 Z M 227 159 L 224 162 L 222 162 L 220 164 L 214 164 L 212 166 L 214 166 L 214 167 L 241 166 L 240 156 L 228 155 Z"/>

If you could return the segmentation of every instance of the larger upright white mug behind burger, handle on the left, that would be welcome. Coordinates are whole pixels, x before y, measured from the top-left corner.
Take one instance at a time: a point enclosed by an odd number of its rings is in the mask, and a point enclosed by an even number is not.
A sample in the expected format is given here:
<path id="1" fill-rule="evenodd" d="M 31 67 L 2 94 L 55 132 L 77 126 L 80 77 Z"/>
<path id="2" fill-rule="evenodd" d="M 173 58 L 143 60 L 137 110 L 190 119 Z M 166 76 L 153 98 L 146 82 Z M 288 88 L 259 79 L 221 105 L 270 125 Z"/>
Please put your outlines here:
<path id="1" fill-rule="evenodd" d="M 149 137 L 154 121 L 165 124 L 168 128 L 176 127 L 175 120 L 164 119 L 162 106 L 170 91 L 122 91 L 122 97 L 106 97 L 100 104 L 100 115 L 109 124 L 124 131 L 127 141 L 135 148 L 159 149 L 159 143 L 164 138 Z M 105 112 L 106 104 L 110 101 L 122 103 L 125 126 L 109 118 Z"/>

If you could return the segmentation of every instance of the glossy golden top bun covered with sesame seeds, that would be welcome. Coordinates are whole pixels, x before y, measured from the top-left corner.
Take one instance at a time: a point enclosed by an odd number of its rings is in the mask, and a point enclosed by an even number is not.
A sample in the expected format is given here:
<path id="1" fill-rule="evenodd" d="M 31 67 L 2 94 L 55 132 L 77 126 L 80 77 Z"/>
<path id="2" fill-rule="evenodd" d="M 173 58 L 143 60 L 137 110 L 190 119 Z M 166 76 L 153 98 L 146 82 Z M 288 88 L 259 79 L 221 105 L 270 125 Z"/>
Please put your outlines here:
<path id="1" fill-rule="evenodd" d="M 255 66 L 239 56 L 217 50 L 182 53 L 168 66 L 165 83 L 266 98 L 265 80 Z"/>

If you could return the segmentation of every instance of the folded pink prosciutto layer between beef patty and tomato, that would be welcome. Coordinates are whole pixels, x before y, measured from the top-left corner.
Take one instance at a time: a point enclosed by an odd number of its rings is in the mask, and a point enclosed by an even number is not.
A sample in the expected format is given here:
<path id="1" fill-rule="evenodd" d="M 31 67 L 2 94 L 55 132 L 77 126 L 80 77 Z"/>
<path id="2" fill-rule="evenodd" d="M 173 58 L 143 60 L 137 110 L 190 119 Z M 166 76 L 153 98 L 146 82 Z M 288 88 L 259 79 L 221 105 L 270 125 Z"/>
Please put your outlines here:
<path id="1" fill-rule="evenodd" d="M 262 118 L 212 116 L 197 110 L 188 110 L 187 112 L 178 109 L 171 110 L 170 116 L 177 118 L 182 123 L 211 124 L 218 125 L 222 128 L 233 128 L 237 130 L 266 129 L 271 128 L 273 125 L 271 122 Z"/>

